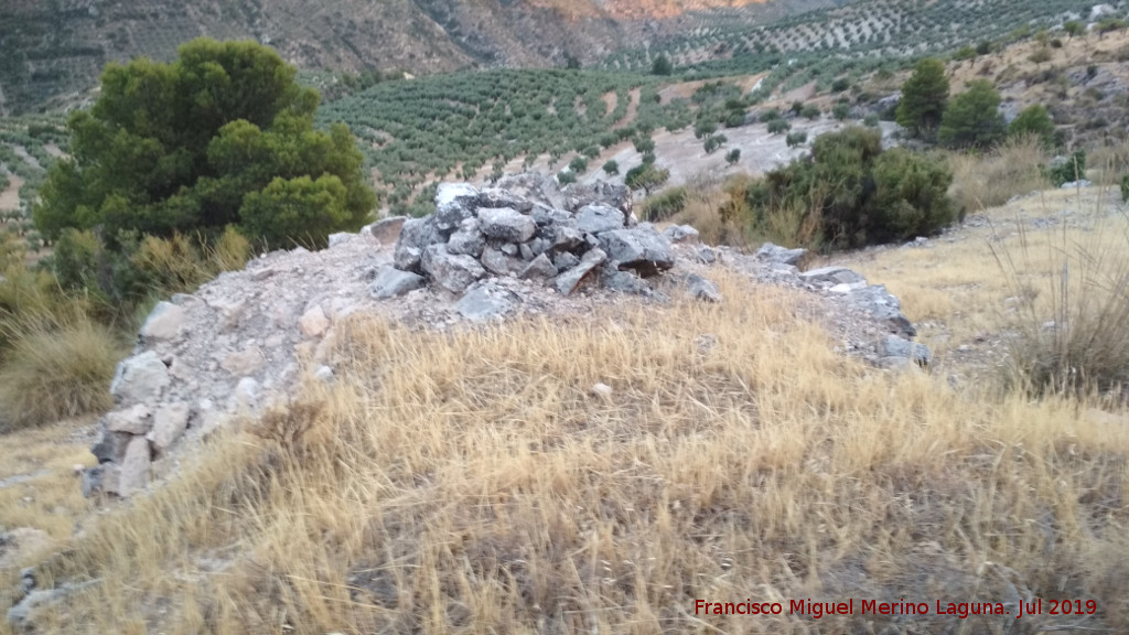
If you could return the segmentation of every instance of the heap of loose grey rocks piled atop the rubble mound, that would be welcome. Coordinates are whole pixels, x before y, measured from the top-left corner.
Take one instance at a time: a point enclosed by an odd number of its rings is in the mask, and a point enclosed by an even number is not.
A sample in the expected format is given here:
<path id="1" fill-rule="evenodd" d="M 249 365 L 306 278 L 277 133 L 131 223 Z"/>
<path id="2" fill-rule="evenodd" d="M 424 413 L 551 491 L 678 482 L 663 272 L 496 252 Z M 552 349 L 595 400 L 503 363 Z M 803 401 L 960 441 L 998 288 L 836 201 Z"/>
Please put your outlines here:
<path id="1" fill-rule="evenodd" d="M 395 297 L 431 282 L 462 295 L 464 313 L 479 316 L 495 313 L 491 304 L 499 311 L 510 304 L 495 286 L 478 284 L 498 277 L 540 280 L 564 296 L 588 280 L 649 295 L 654 288 L 647 278 L 674 267 L 672 242 L 698 236 L 691 227 L 675 226 L 660 234 L 654 225 L 638 223 L 631 193 L 623 186 L 604 185 L 574 198 L 571 210 L 569 201 L 554 200 L 544 188 L 526 191 L 531 195 L 445 183 L 436 195 L 435 214 L 383 221 L 374 230 L 383 233 L 384 226 L 400 224 L 400 240 L 393 266 L 377 273 L 373 295 Z M 717 299 L 717 288 L 708 280 L 685 282 L 695 287 L 695 295 Z"/>

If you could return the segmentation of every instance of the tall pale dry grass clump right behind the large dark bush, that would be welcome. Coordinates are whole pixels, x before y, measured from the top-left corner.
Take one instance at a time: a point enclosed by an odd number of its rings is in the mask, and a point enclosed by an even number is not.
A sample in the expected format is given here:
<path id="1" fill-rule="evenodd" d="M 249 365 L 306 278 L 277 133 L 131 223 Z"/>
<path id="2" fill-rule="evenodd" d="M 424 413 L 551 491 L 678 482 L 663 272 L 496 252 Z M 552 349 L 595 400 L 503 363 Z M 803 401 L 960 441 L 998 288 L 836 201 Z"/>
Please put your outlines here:
<path id="1" fill-rule="evenodd" d="M 1050 186 L 1039 168 L 1048 163 L 1050 157 L 1034 137 L 1008 139 L 984 155 L 951 153 L 949 194 L 968 214 L 998 207 L 1012 197 Z"/>

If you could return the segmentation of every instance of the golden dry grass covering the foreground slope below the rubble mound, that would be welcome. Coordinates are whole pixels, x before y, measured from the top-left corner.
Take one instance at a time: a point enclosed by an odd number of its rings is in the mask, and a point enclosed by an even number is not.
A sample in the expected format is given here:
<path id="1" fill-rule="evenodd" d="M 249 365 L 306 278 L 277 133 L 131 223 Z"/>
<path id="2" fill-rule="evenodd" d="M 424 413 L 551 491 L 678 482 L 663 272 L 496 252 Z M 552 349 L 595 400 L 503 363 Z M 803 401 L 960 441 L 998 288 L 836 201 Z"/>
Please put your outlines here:
<path id="1" fill-rule="evenodd" d="M 1123 416 L 866 368 L 797 321 L 797 298 L 717 278 L 719 305 L 566 323 L 356 319 L 334 385 L 306 384 L 46 563 L 46 583 L 99 582 L 41 628 L 921 633 L 959 623 L 706 617 L 694 600 L 931 612 L 1026 593 L 1100 612 L 1022 632 L 1129 628 Z"/>

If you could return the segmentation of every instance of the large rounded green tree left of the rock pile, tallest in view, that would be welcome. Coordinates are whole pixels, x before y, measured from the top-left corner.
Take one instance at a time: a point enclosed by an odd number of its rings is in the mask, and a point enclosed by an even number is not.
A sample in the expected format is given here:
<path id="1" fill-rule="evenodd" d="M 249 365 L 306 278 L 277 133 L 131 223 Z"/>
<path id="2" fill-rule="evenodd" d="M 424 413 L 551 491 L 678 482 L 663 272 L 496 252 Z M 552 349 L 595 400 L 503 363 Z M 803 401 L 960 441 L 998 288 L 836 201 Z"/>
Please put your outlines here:
<path id="1" fill-rule="evenodd" d="M 376 199 L 362 156 L 343 124 L 314 129 L 317 93 L 292 67 L 254 42 L 199 38 L 178 52 L 169 64 L 106 67 L 98 101 L 68 123 L 72 160 L 43 185 L 34 218 L 46 236 L 102 228 L 113 245 L 121 230 L 236 225 L 272 244 L 317 244 L 364 224 Z"/>

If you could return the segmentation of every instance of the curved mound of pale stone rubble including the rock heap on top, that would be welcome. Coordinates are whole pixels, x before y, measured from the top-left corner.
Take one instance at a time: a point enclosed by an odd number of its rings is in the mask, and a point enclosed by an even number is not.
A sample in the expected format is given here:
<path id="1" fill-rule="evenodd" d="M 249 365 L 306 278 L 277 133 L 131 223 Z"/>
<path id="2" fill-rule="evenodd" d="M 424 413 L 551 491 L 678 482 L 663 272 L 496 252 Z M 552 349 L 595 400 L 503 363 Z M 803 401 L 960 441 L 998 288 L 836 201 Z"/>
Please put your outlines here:
<path id="1" fill-rule="evenodd" d="M 710 269 L 812 294 L 811 315 L 843 351 L 876 366 L 927 366 L 898 299 L 848 269 L 800 272 L 803 250 L 756 254 L 699 244 L 698 232 L 639 223 L 630 192 L 606 183 L 557 188 L 518 175 L 497 188 L 445 184 L 425 218 L 387 218 L 330 236 L 320 252 L 263 254 L 191 295 L 161 302 L 119 364 L 115 407 L 99 421 L 84 494 L 129 496 L 169 473 L 194 442 L 285 405 L 309 367 L 333 381 L 335 327 L 356 313 L 445 330 L 516 315 L 588 315 L 624 294 L 667 302 L 721 295 Z"/>

